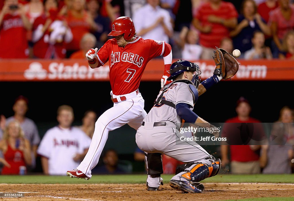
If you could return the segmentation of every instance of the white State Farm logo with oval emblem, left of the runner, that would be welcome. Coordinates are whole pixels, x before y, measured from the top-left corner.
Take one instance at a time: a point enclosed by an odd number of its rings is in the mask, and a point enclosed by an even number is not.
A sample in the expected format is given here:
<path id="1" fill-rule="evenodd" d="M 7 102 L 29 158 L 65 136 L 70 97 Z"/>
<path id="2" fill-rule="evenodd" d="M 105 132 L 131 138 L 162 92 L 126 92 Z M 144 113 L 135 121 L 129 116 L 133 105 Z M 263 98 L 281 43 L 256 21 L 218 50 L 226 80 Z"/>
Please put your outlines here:
<path id="1" fill-rule="evenodd" d="M 46 70 L 48 69 L 48 70 Z M 107 79 L 109 75 L 108 65 L 92 69 L 90 66 L 64 65 L 64 63 L 52 62 L 43 68 L 39 62 L 33 62 L 29 69 L 24 71 L 24 77 L 28 80 L 83 80 L 83 79 Z"/>

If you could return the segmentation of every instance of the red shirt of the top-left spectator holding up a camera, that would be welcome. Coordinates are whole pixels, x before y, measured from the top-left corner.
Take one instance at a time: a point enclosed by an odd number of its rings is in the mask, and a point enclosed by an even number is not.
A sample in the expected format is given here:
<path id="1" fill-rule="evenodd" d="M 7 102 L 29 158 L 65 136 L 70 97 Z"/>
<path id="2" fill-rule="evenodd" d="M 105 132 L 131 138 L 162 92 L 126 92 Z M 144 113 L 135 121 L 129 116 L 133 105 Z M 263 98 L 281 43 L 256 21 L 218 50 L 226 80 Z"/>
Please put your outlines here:
<path id="1" fill-rule="evenodd" d="M 27 58 L 26 33 L 19 15 L 6 14 L 0 27 L 0 58 Z"/>

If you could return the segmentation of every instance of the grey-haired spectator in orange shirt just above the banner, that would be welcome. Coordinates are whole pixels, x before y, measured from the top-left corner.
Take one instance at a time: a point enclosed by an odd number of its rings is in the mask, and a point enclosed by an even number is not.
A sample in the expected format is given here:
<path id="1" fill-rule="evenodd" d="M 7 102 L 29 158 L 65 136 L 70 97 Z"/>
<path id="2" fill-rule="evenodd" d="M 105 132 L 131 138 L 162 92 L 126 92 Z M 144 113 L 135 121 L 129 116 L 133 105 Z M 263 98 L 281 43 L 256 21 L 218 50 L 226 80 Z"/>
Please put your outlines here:
<path id="1" fill-rule="evenodd" d="M 91 33 L 84 34 L 80 42 L 80 50 L 71 55 L 71 59 L 86 59 L 86 53 L 89 49 L 96 47 L 96 38 Z"/>

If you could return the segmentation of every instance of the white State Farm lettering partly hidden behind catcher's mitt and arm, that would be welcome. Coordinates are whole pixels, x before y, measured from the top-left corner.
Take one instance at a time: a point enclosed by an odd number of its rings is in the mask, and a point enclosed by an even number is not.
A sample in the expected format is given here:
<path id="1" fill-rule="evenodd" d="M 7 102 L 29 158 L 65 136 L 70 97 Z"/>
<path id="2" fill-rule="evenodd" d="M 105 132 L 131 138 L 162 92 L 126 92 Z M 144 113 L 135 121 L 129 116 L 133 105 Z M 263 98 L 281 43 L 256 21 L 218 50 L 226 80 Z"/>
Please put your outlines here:
<path id="1" fill-rule="evenodd" d="M 213 74 L 215 65 L 207 65 L 206 62 L 196 62 L 200 66 L 201 76 L 210 77 Z M 265 65 L 239 65 L 239 70 L 234 77 L 245 78 L 265 78 L 267 67 Z"/>

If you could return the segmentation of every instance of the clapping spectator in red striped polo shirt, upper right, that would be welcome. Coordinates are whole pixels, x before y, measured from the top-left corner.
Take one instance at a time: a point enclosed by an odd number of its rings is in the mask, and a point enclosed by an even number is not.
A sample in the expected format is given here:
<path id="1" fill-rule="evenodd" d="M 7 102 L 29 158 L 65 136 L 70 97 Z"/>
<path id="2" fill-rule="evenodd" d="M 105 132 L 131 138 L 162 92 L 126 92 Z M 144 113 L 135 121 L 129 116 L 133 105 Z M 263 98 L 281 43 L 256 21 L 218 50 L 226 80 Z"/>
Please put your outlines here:
<path id="1" fill-rule="evenodd" d="M 220 46 L 224 37 L 229 37 L 230 29 L 237 25 L 238 13 L 229 2 L 210 0 L 202 4 L 193 19 L 193 25 L 200 31 L 202 59 L 211 59 L 212 49 Z"/>

